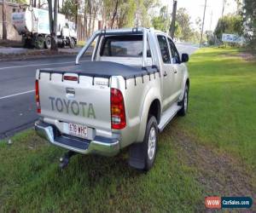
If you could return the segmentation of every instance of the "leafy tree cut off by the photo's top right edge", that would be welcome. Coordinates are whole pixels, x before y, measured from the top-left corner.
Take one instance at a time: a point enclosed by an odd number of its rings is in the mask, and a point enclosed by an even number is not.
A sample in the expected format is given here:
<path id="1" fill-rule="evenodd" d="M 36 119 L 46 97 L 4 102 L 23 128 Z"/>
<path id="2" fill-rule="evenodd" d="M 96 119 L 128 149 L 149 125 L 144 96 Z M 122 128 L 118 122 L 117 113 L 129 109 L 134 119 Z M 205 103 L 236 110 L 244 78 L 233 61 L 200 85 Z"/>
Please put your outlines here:
<path id="1" fill-rule="evenodd" d="M 256 1 L 244 0 L 245 36 L 247 46 L 256 52 Z"/>

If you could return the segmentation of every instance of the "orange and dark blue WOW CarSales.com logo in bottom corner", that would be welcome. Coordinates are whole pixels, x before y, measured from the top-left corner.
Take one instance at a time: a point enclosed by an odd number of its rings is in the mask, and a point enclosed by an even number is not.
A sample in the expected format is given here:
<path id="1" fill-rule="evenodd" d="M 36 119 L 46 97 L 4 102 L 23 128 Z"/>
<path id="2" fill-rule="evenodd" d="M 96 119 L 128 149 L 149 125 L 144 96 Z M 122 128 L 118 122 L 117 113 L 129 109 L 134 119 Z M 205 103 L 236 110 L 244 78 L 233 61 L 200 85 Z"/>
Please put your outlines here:
<path id="1" fill-rule="evenodd" d="M 205 200 L 208 209 L 250 208 L 253 199 L 250 197 L 207 197 Z"/>

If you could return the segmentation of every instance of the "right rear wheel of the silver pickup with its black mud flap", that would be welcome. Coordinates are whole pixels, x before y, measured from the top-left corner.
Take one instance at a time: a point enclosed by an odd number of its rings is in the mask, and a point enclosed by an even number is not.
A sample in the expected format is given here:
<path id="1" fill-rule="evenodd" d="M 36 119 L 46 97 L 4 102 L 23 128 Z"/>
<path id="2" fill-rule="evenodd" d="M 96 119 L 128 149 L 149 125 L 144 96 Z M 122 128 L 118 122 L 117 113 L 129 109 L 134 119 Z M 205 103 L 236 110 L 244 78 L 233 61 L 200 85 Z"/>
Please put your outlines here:
<path id="1" fill-rule="evenodd" d="M 156 118 L 150 116 L 142 143 L 130 147 L 129 164 L 138 170 L 148 171 L 154 165 L 158 144 L 158 125 Z"/>

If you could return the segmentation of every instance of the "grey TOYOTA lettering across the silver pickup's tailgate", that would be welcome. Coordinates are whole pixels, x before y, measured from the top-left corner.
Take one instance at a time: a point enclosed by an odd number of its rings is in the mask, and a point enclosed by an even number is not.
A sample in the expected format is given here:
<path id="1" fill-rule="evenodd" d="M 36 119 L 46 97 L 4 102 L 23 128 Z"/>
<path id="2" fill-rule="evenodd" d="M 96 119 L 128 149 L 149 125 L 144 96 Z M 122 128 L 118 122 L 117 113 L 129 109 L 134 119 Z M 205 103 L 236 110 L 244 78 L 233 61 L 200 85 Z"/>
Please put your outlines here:
<path id="1" fill-rule="evenodd" d="M 49 96 L 49 101 L 52 111 L 67 112 L 67 114 L 73 113 L 76 116 L 82 112 L 81 114 L 84 117 L 96 118 L 92 103 L 88 104 L 82 101 L 71 101 L 51 96 Z"/>

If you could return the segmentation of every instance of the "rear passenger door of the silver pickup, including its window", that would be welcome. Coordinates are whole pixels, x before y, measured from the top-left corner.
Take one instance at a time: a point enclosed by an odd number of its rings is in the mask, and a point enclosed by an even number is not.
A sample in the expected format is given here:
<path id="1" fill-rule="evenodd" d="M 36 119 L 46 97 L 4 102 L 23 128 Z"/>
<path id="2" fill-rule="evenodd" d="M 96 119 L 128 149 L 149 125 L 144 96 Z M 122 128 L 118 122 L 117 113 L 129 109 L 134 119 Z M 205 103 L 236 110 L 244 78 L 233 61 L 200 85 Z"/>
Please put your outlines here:
<path id="1" fill-rule="evenodd" d="M 160 47 L 160 53 L 162 58 L 162 73 L 163 73 L 163 111 L 172 105 L 175 101 L 173 99 L 173 68 L 171 63 L 170 50 L 168 48 L 167 38 L 165 35 L 157 35 L 157 40 Z"/>

